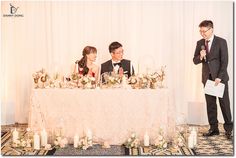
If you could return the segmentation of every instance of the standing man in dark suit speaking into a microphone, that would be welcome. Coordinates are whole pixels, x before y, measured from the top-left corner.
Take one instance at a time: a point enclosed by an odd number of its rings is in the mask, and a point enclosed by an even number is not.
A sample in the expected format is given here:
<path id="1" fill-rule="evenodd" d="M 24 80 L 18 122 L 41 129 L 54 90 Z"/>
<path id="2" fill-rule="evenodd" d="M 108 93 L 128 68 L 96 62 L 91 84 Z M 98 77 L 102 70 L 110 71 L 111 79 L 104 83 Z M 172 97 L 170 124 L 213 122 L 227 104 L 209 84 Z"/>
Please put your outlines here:
<path id="1" fill-rule="evenodd" d="M 213 34 L 213 22 L 204 20 L 199 24 L 200 34 L 203 37 L 197 41 L 193 62 L 195 65 L 202 63 L 202 83 L 205 86 L 207 80 L 212 80 L 217 86 L 220 82 L 225 84 L 223 98 L 219 98 L 220 108 L 224 117 L 225 135 L 231 138 L 233 123 L 231 121 L 231 111 L 228 93 L 227 73 L 228 48 L 225 39 Z M 216 97 L 205 94 L 207 104 L 207 116 L 210 129 L 203 136 L 219 135 L 217 120 Z"/>

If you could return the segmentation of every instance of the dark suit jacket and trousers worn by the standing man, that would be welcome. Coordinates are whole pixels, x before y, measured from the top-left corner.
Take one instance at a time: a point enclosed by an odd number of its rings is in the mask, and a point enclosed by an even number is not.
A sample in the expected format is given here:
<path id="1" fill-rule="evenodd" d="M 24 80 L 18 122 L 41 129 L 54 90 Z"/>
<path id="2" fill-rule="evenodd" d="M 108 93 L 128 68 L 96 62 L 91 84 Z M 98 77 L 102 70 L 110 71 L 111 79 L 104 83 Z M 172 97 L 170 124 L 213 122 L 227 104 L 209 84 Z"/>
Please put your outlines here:
<path id="1" fill-rule="evenodd" d="M 197 42 L 195 49 L 193 62 L 194 64 L 202 63 L 202 83 L 206 84 L 208 79 L 215 81 L 216 78 L 220 78 L 221 82 L 225 84 L 225 91 L 223 98 L 219 98 L 221 111 L 224 117 L 224 129 L 231 131 L 233 123 L 231 122 L 230 102 L 228 94 L 228 80 L 227 73 L 228 66 L 228 48 L 225 39 L 214 36 L 210 52 L 206 55 L 206 60 L 200 60 L 200 51 L 202 46 L 205 45 L 205 40 L 201 39 Z M 218 129 L 217 120 L 217 104 L 216 97 L 205 94 L 207 103 L 207 116 L 212 130 Z"/>

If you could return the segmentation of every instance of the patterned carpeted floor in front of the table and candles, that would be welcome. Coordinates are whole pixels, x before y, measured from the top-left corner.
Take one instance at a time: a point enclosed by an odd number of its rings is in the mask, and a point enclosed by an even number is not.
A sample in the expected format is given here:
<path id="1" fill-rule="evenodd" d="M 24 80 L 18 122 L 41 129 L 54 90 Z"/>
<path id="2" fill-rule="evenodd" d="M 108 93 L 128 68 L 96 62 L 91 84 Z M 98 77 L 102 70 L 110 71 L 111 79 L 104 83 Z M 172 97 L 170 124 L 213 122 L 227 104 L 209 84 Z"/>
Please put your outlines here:
<path id="1" fill-rule="evenodd" d="M 202 133 L 206 132 L 208 126 L 198 127 L 198 145 L 194 150 L 188 148 L 181 148 L 178 151 L 138 148 L 138 149 L 126 149 L 124 146 L 112 145 L 109 149 L 104 149 L 100 145 L 93 145 L 91 149 L 79 150 L 74 149 L 73 145 L 68 145 L 66 148 L 47 150 L 33 150 L 33 149 L 21 149 L 12 148 L 11 143 L 11 130 L 17 126 L 17 129 L 21 131 L 22 136 L 26 134 L 27 125 L 8 125 L 1 126 L 1 155 L 227 155 L 233 156 L 234 146 L 233 138 L 228 140 L 224 136 L 223 126 L 219 125 L 220 135 L 213 137 L 203 137 Z"/>

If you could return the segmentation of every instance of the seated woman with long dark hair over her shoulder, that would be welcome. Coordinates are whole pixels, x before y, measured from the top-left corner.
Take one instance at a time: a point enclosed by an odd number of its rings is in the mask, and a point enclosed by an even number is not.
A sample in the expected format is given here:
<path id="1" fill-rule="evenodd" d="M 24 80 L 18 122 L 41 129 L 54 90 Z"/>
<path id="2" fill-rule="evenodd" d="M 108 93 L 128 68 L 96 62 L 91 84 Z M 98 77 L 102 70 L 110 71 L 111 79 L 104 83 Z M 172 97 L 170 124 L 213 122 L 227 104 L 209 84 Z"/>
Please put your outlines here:
<path id="1" fill-rule="evenodd" d="M 97 57 L 97 49 L 92 46 L 86 46 L 83 49 L 82 55 L 83 57 L 75 62 L 74 73 L 94 77 L 97 83 L 99 68 L 94 64 Z"/>

